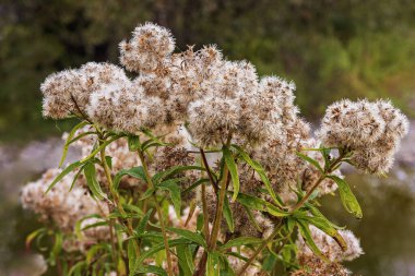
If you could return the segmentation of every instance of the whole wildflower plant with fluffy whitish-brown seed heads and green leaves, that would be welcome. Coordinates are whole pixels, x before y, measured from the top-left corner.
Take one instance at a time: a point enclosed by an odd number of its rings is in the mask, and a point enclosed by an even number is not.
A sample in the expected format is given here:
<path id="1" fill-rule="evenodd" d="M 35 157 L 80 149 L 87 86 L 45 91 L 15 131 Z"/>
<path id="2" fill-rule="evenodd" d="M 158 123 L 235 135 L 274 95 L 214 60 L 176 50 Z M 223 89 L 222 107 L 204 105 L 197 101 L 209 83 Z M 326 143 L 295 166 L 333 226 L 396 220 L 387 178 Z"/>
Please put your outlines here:
<path id="1" fill-rule="evenodd" d="M 176 52 L 146 23 L 119 47 L 123 68 L 88 62 L 42 84 L 44 116 L 80 122 L 59 168 L 22 191 L 45 223 L 27 245 L 60 275 L 349 275 L 359 241 L 319 199 L 337 191 L 363 217 L 341 165 L 388 172 L 408 129 L 400 110 L 341 100 L 312 135 L 293 82 L 214 45 Z M 82 158 L 66 165 L 70 146 Z"/>

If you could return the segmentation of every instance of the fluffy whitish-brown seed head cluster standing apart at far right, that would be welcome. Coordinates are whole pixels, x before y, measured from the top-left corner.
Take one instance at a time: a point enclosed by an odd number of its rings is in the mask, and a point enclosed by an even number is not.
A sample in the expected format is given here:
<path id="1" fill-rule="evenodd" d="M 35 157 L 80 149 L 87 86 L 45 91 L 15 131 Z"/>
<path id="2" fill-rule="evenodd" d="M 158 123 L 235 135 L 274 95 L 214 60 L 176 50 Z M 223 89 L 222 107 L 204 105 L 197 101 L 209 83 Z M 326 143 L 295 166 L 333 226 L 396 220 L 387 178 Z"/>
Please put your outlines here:
<path id="1" fill-rule="evenodd" d="M 388 172 L 408 120 L 390 101 L 341 100 L 331 105 L 318 136 L 325 146 L 343 146 L 354 152 L 352 161 L 361 171 Z"/>

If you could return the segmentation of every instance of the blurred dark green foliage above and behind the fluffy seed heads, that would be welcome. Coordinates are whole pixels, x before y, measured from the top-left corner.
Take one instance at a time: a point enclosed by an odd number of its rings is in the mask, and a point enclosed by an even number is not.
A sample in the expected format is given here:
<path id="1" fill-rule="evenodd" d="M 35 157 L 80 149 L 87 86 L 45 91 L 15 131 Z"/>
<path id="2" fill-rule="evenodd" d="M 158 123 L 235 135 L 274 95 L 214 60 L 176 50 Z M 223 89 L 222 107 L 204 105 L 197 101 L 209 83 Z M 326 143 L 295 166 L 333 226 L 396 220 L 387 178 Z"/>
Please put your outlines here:
<path id="1" fill-rule="evenodd" d="M 179 49 L 217 44 L 260 74 L 294 80 L 309 119 L 342 97 L 390 97 L 415 116 L 412 0 L 2 0 L 1 140 L 50 134 L 54 122 L 40 113 L 45 76 L 117 62 L 118 43 L 145 21 L 171 28 Z"/>

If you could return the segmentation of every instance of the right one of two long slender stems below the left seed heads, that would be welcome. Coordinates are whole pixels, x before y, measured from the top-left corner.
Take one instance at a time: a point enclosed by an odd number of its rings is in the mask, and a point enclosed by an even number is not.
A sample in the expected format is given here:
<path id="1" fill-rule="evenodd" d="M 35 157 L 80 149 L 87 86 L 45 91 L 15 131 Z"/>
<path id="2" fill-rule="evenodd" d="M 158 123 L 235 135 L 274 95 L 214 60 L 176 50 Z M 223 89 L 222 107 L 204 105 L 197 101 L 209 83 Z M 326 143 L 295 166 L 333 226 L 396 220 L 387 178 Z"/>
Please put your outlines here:
<path id="1" fill-rule="evenodd" d="M 141 160 L 141 166 L 143 167 L 143 170 L 144 170 L 144 173 L 145 173 L 145 178 L 147 180 L 149 188 L 150 189 L 154 189 L 154 184 L 153 184 L 152 178 L 150 177 L 149 167 L 146 165 L 144 155 L 143 155 L 143 153 L 141 151 L 138 151 L 138 153 L 139 153 L 139 157 L 140 157 L 140 160 Z M 157 196 L 156 196 L 155 193 L 153 193 L 153 200 L 154 200 L 154 204 L 156 206 L 157 216 L 158 216 L 158 219 L 159 219 L 159 226 L 162 228 L 164 247 L 166 249 L 167 274 L 168 274 L 168 276 L 174 276 L 174 274 L 173 274 L 173 264 L 171 264 L 171 255 L 170 255 L 170 248 L 168 245 L 167 231 L 166 231 L 166 227 L 165 227 L 164 219 L 163 219 L 162 208 L 161 208 L 161 206 L 158 204 Z"/>

